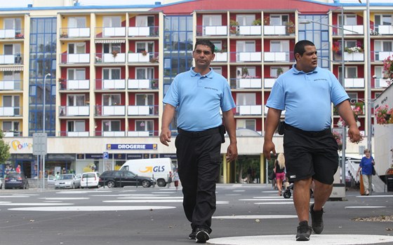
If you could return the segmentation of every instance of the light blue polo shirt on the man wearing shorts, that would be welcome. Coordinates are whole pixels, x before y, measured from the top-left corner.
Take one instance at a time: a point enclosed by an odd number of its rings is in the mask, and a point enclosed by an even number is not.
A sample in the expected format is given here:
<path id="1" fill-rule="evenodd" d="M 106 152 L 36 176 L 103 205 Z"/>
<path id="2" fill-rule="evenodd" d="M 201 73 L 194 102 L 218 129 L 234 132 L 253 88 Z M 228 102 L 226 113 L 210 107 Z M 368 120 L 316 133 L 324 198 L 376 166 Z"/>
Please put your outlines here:
<path id="1" fill-rule="evenodd" d="M 305 131 L 331 127 L 331 103 L 349 99 L 347 92 L 327 69 L 305 73 L 295 68 L 277 78 L 266 106 L 285 112 L 285 123 Z"/>

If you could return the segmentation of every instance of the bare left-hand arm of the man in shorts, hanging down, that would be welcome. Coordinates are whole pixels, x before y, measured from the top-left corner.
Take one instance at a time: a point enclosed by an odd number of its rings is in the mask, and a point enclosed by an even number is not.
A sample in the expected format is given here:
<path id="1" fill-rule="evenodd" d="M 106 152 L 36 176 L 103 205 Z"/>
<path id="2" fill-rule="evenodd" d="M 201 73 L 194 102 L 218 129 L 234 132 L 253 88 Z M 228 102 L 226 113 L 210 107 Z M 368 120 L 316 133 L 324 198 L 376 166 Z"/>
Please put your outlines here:
<path id="1" fill-rule="evenodd" d="M 269 108 L 267 111 L 266 121 L 265 121 L 265 140 L 263 142 L 263 155 L 267 160 L 270 160 L 270 152 L 272 151 L 276 154 L 276 146 L 273 143 L 273 134 L 279 125 L 279 120 L 281 116 L 281 110 Z"/>

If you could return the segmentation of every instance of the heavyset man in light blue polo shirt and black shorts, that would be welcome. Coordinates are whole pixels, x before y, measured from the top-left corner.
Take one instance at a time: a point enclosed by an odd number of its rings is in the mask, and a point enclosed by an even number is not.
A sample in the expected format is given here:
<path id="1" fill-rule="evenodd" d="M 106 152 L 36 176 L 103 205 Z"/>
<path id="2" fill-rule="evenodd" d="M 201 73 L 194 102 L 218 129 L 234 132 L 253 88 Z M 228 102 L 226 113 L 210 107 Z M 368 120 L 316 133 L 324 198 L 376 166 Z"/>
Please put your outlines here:
<path id="1" fill-rule="evenodd" d="M 286 176 L 294 183 L 293 202 L 298 214 L 297 241 L 308 241 L 311 231 L 324 229 L 322 214 L 333 189 L 333 175 L 338 169 L 338 145 L 331 133 L 331 103 L 349 125 L 352 142 L 361 137 L 349 97 L 337 78 L 317 66 L 314 43 L 303 40 L 295 44 L 296 64 L 277 78 L 266 106 L 263 154 L 270 159 L 276 153 L 272 141 L 285 110 L 284 153 Z M 281 131 L 281 130 L 280 130 Z M 314 204 L 309 207 L 309 189 L 314 181 Z M 309 213 L 312 227 L 309 227 Z"/>

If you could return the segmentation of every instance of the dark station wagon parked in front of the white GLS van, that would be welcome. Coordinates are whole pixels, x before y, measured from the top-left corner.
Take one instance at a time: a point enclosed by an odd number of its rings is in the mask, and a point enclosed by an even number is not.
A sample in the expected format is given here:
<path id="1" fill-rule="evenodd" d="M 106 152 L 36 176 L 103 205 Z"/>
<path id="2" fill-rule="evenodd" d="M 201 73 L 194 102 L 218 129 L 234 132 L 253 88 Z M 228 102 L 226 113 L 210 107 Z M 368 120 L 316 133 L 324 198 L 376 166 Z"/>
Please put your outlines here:
<path id="1" fill-rule="evenodd" d="M 124 187 L 124 186 L 138 186 L 150 187 L 155 181 L 154 179 L 146 176 L 137 176 L 130 171 L 105 171 L 100 175 L 99 186 Z"/>

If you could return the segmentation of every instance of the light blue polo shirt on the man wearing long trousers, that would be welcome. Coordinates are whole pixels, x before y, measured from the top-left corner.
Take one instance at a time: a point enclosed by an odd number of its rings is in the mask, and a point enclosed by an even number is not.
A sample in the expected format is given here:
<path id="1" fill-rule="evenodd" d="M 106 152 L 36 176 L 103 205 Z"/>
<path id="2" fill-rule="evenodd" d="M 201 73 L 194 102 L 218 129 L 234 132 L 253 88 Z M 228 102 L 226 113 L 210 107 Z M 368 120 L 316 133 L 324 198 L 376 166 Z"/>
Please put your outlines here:
<path id="1" fill-rule="evenodd" d="M 236 106 L 227 79 L 213 69 L 201 76 L 194 67 L 175 76 L 163 102 L 177 108 L 178 127 L 194 132 L 220 126 L 220 108 Z"/>

